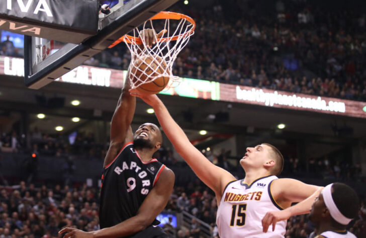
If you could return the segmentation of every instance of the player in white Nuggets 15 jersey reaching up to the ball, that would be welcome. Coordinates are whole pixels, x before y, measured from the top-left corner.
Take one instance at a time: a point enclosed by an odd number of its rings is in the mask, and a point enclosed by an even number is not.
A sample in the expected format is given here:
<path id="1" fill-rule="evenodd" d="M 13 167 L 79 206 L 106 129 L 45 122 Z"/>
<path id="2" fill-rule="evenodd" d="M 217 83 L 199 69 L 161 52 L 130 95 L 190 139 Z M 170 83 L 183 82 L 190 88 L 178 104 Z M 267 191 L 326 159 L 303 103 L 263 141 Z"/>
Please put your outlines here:
<path id="1" fill-rule="evenodd" d="M 236 181 L 232 174 L 212 164 L 191 144 L 156 95 L 130 92 L 153 107 L 176 151 L 215 192 L 219 206 L 216 222 L 221 238 L 284 237 L 290 216 L 310 212 L 322 187 L 294 179 L 278 179 L 276 175 L 281 173 L 284 159 L 276 147 L 265 143 L 248 147 L 240 160 L 245 178 Z M 293 202 L 298 204 L 291 206 Z M 272 229 L 268 231 L 271 224 Z"/>

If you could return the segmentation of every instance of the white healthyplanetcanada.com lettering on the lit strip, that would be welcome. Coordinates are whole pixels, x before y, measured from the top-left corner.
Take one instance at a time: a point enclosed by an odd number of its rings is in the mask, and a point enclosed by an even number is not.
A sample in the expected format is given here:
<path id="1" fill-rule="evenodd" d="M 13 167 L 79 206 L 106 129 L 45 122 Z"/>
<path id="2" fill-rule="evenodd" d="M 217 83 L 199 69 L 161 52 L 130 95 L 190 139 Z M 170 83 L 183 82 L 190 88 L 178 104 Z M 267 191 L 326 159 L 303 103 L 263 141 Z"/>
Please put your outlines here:
<path id="1" fill-rule="evenodd" d="M 328 103 L 318 98 L 299 97 L 296 94 L 286 95 L 277 91 L 265 93 L 261 89 L 245 90 L 236 86 L 236 98 L 238 100 L 263 103 L 265 106 L 273 107 L 275 105 L 308 108 L 321 111 L 345 113 L 346 106 L 342 102 L 329 101 Z"/>

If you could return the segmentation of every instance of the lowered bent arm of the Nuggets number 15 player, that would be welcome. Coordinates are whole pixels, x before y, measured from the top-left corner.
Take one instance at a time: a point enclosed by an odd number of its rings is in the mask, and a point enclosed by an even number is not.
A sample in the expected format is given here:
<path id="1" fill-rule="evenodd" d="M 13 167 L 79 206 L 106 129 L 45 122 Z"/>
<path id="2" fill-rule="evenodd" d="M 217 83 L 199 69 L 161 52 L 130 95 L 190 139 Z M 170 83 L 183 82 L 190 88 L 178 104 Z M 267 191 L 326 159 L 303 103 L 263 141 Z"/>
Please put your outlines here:
<path id="1" fill-rule="evenodd" d="M 267 232 L 269 225 L 272 230 L 276 223 L 286 220 L 291 216 L 310 212 L 311 206 L 324 187 L 305 184 L 295 179 L 277 179 L 271 184 L 271 194 L 278 203 L 287 204 L 287 208 L 281 211 L 270 211 L 262 219 L 263 232 Z M 299 202 L 291 206 L 291 203 Z"/>

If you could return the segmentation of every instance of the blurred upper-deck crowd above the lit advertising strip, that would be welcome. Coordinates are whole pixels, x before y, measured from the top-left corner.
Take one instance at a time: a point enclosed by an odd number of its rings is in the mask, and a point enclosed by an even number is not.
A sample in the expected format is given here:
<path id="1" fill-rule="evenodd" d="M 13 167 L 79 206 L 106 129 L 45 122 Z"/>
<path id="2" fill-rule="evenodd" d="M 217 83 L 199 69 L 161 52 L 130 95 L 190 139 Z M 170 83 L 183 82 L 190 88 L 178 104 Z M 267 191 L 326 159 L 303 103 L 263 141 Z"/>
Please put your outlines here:
<path id="1" fill-rule="evenodd" d="M 172 7 L 197 23 L 173 74 L 245 86 L 366 101 L 366 15 L 328 10 L 310 1 L 277 1 L 263 10 L 254 1 L 200 9 Z M 240 16 L 240 17 L 238 17 Z M 0 55 L 22 57 L 9 37 Z M 127 69 L 124 44 L 84 64 Z"/>

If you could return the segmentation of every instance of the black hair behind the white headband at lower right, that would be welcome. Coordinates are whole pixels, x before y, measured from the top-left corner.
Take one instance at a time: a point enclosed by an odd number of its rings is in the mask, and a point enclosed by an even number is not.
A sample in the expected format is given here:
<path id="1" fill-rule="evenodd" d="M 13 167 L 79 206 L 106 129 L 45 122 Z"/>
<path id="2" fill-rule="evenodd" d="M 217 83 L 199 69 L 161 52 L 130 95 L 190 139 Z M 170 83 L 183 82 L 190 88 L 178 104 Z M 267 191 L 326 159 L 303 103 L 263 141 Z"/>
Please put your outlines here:
<path id="1" fill-rule="evenodd" d="M 332 198 L 340 213 L 353 219 L 358 215 L 359 199 L 356 192 L 346 184 L 333 183 Z"/>

